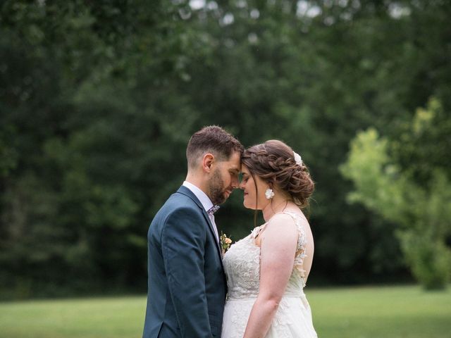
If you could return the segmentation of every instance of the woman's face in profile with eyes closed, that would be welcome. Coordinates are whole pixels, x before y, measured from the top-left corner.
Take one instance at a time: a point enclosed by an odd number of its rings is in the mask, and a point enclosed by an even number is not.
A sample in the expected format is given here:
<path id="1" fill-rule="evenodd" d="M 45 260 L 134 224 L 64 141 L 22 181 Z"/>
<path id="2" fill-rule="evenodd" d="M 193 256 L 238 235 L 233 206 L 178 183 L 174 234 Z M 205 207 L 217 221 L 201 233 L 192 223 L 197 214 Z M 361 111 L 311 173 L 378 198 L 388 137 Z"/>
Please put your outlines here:
<path id="1" fill-rule="evenodd" d="M 249 172 L 249 169 L 244 164 L 241 165 L 241 173 L 242 180 L 240 182 L 240 189 L 244 192 L 243 204 L 245 208 L 254 210 L 256 208 L 257 210 L 263 209 L 268 205 L 268 203 L 271 202 L 271 200 L 266 199 L 265 196 L 266 189 L 268 189 L 268 184 L 264 182 L 264 180 L 261 180 L 261 178 L 257 175 L 254 175 L 254 180 Z M 256 184 L 257 189 L 255 189 Z"/>

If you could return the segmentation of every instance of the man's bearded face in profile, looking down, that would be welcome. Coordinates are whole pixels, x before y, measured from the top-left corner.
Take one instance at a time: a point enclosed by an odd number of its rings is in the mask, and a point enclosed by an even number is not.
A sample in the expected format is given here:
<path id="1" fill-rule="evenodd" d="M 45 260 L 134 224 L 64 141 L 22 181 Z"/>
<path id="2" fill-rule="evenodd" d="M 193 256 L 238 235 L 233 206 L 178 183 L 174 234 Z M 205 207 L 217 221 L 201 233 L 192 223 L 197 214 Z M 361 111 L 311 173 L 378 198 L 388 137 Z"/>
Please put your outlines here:
<path id="1" fill-rule="evenodd" d="M 241 154 L 234 152 L 227 161 L 218 161 L 209 180 L 209 197 L 213 204 L 223 204 L 238 187 Z"/>

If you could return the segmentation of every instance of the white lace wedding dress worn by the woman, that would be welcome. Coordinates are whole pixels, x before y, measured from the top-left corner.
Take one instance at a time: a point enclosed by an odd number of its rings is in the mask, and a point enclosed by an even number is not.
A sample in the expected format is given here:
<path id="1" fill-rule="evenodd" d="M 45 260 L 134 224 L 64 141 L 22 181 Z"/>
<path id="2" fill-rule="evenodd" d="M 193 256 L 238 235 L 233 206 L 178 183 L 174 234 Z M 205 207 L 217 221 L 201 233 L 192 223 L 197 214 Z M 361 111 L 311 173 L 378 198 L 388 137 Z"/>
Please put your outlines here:
<path id="1" fill-rule="evenodd" d="M 299 231 L 297 256 L 285 294 L 265 337 L 316 338 L 309 302 L 303 291 L 305 278 L 302 262 L 306 256 L 304 249 L 307 237 L 301 216 L 295 213 L 286 214 L 292 216 Z M 223 257 L 228 295 L 221 338 L 242 338 L 245 334 L 249 314 L 259 294 L 260 248 L 255 244 L 255 238 L 264 227 L 266 223 L 230 246 Z"/>

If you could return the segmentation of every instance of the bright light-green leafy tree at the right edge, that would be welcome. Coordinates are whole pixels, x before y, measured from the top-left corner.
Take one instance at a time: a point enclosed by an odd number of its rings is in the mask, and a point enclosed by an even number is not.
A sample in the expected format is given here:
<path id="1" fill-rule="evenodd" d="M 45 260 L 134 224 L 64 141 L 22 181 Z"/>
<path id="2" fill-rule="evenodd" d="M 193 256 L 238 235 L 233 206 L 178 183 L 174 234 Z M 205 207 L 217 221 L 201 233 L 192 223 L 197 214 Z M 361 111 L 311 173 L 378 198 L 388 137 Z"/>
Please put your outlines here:
<path id="1" fill-rule="evenodd" d="M 432 99 L 426 110 L 417 110 L 409 128 L 412 136 L 402 134 L 402 139 L 414 139 L 425 127 L 440 129 L 441 121 L 433 114 L 438 108 L 440 104 Z M 426 289 L 443 289 L 451 277 L 451 249 L 446 245 L 451 236 L 451 182 L 443 168 L 431 161 L 426 168 L 431 176 L 422 187 L 424 182 L 415 180 L 416 163 L 401 170 L 388 155 L 389 144 L 374 129 L 360 132 L 352 141 L 341 167 L 342 175 L 354 182 L 349 201 L 360 202 L 400 225 L 404 256 L 416 279 Z M 409 151 L 412 144 L 404 144 Z M 395 146 L 398 153 L 402 151 L 397 142 Z"/>

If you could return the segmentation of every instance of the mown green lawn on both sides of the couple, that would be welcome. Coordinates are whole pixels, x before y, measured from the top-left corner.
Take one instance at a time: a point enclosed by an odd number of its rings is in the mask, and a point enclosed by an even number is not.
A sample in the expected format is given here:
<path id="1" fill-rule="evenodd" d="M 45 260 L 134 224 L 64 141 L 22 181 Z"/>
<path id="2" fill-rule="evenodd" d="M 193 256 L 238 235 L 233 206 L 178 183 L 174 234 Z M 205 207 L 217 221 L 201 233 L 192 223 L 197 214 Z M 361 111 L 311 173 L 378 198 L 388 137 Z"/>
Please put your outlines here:
<path id="1" fill-rule="evenodd" d="M 320 338 L 451 337 L 450 289 L 307 288 L 306 294 Z M 0 337 L 141 337 L 145 303 L 144 296 L 0 303 Z"/>

